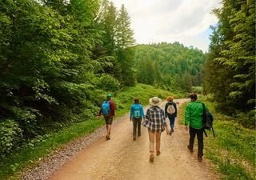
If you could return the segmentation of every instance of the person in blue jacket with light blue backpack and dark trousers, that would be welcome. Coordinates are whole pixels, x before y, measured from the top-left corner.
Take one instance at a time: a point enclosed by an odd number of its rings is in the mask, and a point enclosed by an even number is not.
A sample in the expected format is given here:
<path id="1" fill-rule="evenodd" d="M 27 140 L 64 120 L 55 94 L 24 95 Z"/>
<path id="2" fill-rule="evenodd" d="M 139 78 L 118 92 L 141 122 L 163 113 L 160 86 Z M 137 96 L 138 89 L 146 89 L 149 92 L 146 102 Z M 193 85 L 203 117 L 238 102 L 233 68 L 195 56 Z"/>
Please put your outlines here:
<path id="1" fill-rule="evenodd" d="M 133 139 L 136 140 L 136 134 L 138 131 L 138 137 L 141 136 L 141 124 L 142 118 L 145 119 L 144 110 L 142 105 L 139 104 L 139 99 L 134 98 L 134 104 L 130 106 L 130 121 L 133 122 Z"/>

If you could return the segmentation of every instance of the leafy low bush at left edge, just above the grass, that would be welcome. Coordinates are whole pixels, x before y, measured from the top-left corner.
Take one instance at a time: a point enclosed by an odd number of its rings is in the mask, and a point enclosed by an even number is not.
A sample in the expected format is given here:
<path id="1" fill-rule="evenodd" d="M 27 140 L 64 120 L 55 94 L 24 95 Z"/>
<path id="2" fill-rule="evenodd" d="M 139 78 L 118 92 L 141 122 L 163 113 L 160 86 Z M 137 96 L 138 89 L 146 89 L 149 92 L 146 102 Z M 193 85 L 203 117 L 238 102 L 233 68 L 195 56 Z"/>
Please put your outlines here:
<path id="1" fill-rule="evenodd" d="M 14 146 L 21 140 L 22 130 L 18 127 L 17 122 L 10 119 L 0 122 L 0 155 L 2 158 L 6 154 L 10 154 Z"/>

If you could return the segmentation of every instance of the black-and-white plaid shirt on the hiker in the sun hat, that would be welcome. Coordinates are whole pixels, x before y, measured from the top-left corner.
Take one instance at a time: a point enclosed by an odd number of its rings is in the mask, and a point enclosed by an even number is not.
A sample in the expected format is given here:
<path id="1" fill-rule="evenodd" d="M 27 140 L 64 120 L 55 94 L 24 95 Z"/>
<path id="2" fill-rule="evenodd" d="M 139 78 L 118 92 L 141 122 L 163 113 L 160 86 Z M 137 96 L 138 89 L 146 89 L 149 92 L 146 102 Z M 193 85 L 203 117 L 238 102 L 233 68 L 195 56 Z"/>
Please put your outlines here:
<path id="1" fill-rule="evenodd" d="M 146 111 L 146 123 L 148 123 L 146 127 L 151 132 L 164 131 L 167 126 L 164 111 L 158 106 L 154 108 L 150 107 L 150 109 Z"/>

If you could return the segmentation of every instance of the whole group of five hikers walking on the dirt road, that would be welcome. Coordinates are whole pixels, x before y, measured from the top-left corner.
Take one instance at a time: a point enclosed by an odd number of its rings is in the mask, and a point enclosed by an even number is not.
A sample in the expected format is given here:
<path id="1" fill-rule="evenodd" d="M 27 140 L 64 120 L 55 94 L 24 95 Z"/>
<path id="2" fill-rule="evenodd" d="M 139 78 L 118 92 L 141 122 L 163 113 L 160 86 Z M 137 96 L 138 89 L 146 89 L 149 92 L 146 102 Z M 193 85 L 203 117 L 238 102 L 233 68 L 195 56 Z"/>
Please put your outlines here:
<path id="1" fill-rule="evenodd" d="M 107 94 L 106 101 L 102 102 L 102 107 L 98 112 L 98 118 L 101 114 L 105 118 L 106 122 L 106 140 L 110 140 L 110 130 L 113 122 L 114 114 L 114 102 L 111 100 L 112 95 Z M 197 94 L 190 94 L 190 102 L 185 109 L 185 129 L 189 130 L 190 140 L 187 146 L 190 153 L 193 153 L 194 138 L 195 135 L 198 138 L 198 162 L 202 162 L 203 156 L 203 108 L 208 108 L 202 102 L 197 101 Z M 133 122 L 133 140 L 136 141 L 137 136 L 141 136 L 141 125 L 148 129 L 150 140 L 150 162 L 154 162 L 154 150 L 156 155 L 160 155 L 160 142 L 161 134 L 166 130 L 166 134 L 174 133 L 174 122 L 177 117 L 177 103 L 174 102 L 174 98 L 168 96 L 164 110 L 161 108 L 162 100 L 158 97 L 150 98 L 150 107 L 144 110 L 139 102 L 139 98 L 134 98 L 134 104 L 130 106 L 130 121 Z M 170 120 L 170 130 L 166 123 L 166 118 Z M 189 128 L 188 128 L 189 125 Z M 154 145 L 155 142 L 155 145 Z"/>

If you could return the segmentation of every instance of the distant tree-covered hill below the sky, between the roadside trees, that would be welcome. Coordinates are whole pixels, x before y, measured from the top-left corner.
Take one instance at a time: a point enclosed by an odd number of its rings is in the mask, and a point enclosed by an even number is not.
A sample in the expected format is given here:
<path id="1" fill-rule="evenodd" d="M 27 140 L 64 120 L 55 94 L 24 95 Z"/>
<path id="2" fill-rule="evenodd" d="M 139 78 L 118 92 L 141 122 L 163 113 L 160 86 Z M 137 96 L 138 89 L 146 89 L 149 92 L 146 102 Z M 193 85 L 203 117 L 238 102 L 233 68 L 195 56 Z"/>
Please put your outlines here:
<path id="1" fill-rule="evenodd" d="M 139 45 L 134 50 L 137 81 L 168 90 L 191 92 L 202 86 L 205 54 L 179 42 Z"/>

